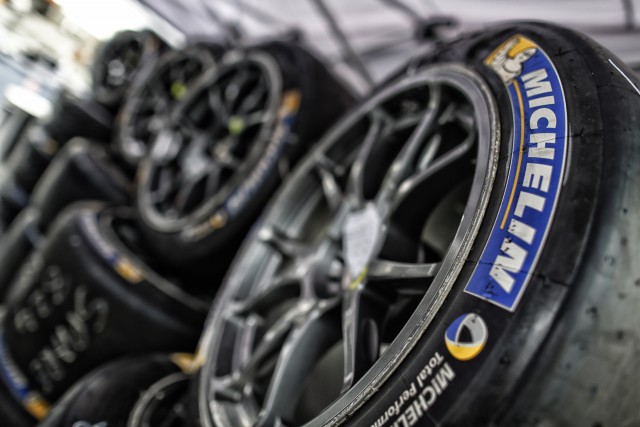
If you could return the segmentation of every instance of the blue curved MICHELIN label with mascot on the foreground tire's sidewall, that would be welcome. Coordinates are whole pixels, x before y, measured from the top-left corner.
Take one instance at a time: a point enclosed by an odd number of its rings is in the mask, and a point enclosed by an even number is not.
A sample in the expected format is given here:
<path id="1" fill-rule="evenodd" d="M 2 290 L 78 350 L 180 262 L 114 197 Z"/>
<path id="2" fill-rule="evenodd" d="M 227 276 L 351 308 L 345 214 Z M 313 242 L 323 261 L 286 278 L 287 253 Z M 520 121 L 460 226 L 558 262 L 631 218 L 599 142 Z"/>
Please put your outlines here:
<path id="1" fill-rule="evenodd" d="M 498 218 L 465 292 L 514 311 L 551 226 L 567 156 L 562 84 L 547 54 L 517 35 L 485 64 L 502 79 L 513 109 L 513 146 Z"/>

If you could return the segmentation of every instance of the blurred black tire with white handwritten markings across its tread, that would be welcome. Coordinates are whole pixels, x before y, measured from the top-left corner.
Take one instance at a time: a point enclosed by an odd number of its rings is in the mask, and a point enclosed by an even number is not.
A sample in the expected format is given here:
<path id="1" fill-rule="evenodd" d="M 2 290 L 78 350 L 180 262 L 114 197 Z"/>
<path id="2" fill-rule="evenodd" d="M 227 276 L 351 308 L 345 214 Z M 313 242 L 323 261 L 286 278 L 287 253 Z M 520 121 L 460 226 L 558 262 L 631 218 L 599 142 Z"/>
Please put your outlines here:
<path id="1" fill-rule="evenodd" d="M 49 403 L 103 363 L 195 348 L 208 303 L 130 251 L 117 225 L 127 215 L 99 204 L 67 210 L 8 298 L 7 357 Z"/>

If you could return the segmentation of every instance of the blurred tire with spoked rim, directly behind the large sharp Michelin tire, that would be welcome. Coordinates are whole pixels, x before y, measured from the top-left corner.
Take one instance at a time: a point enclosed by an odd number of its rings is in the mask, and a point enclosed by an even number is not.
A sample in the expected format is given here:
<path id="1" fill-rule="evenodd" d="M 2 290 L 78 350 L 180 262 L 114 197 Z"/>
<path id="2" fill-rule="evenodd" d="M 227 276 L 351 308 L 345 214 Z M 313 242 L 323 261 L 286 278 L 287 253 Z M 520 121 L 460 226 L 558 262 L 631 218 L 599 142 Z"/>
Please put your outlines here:
<path id="1" fill-rule="evenodd" d="M 221 277 L 282 177 L 351 103 L 299 45 L 229 52 L 176 106 L 141 164 L 136 203 L 149 251 Z"/>

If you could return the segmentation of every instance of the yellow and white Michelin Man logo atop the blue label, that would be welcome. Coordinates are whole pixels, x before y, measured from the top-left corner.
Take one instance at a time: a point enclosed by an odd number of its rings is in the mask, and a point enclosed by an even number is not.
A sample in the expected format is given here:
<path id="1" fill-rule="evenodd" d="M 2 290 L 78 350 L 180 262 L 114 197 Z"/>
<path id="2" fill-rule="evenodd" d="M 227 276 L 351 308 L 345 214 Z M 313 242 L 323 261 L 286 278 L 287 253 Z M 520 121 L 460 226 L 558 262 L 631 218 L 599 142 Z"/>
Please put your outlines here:
<path id="1" fill-rule="evenodd" d="M 522 36 L 515 36 L 501 44 L 485 64 L 494 70 L 505 85 L 509 85 L 522 72 L 522 64 L 538 51 L 537 46 Z"/>

